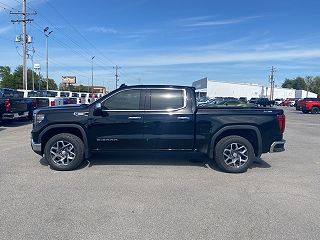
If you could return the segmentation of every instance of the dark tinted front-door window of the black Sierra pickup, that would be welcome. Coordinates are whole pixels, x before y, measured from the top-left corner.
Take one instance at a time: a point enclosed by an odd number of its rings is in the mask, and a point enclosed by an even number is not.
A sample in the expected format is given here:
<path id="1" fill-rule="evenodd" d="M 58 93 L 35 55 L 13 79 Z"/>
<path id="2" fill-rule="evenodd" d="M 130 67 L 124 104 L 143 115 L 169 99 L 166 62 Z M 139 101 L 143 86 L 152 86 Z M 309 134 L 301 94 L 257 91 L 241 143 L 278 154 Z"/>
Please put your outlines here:
<path id="1" fill-rule="evenodd" d="M 103 102 L 103 106 L 108 110 L 139 110 L 140 93 L 138 89 L 125 90 Z"/>

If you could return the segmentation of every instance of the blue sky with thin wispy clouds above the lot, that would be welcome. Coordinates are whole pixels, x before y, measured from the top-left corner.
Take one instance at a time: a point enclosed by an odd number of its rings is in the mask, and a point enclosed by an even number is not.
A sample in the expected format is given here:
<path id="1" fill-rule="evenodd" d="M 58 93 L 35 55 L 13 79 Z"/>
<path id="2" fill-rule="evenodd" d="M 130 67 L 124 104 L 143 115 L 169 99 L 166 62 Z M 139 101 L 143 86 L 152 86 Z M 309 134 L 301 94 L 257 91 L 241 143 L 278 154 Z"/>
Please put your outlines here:
<path id="1" fill-rule="evenodd" d="M 21 0 L 0 0 L 0 65 L 21 64 L 21 25 L 10 7 Z M 78 82 L 183 84 L 202 77 L 276 84 L 298 75 L 320 75 L 320 1 L 316 0 L 27 0 L 37 15 L 28 24 L 34 61 L 45 72 L 43 28 L 49 38 L 49 77 L 75 75 Z M 6 8 L 7 10 L 5 10 Z M 12 10 L 14 11 L 14 10 Z M 17 51 L 16 51 L 17 47 Z M 30 45 L 29 47 L 32 47 Z M 31 63 L 29 61 L 29 65 Z"/>

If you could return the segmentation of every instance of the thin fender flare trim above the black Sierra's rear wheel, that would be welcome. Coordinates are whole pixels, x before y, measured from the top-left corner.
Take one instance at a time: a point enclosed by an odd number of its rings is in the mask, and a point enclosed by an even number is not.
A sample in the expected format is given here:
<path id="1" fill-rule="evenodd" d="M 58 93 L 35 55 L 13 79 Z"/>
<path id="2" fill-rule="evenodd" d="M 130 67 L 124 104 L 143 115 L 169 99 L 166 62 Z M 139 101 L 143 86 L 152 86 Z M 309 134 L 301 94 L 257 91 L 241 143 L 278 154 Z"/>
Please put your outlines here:
<path id="1" fill-rule="evenodd" d="M 256 126 L 252 126 L 252 125 L 230 125 L 230 126 L 225 126 L 225 127 L 221 128 L 219 131 L 217 131 L 211 137 L 211 142 L 210 142 L 209 149 L 208 149 L 208 153 L 209 153 L 210 157 L 213 156 L 213 152 L 214 152 L 213 143 L 216 141 L 216 139 L 222 133 L 224 133 L 225 131 L 228 131 L 228 130 L 253 130 L 256 133 L 257 139 L 258 139 L 258 151 L 257 151 L 256 157 L 261 156 L 261 154 L 262 154 L 262 137 L 261 137 L 260 130 Z"/>

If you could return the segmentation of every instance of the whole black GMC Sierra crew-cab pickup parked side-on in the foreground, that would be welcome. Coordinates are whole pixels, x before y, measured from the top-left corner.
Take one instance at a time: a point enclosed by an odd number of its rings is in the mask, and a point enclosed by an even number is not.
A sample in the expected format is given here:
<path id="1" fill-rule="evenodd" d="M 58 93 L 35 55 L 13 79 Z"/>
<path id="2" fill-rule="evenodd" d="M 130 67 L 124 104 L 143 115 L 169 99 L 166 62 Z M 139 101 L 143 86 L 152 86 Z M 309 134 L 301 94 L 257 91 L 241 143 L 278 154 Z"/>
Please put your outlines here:
<path id="1" fill-rule="evenodd" d="M 92 152 L 197 151 L 226 172 L 244 172 L 262 153 L 284 151 L 283 110 L 197 107 L 183 86 L 125 86 L 90 105 L 35 110 L 32 149 L 56 170 Z"/>

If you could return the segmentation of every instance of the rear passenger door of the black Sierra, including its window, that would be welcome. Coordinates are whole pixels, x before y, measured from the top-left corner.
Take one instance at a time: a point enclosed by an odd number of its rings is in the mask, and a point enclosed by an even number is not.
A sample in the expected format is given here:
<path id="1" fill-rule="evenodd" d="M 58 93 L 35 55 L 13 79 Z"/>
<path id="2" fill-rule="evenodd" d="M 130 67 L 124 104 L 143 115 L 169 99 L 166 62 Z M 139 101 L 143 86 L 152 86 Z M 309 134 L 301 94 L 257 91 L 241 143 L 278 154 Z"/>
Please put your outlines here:
<path id="1" fill-rule="evenodd" d="M 146 149 L 193 149 L 195 119 L 187 97 L 185 89 L 149 89 L 144 115 Z"/>

